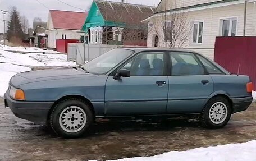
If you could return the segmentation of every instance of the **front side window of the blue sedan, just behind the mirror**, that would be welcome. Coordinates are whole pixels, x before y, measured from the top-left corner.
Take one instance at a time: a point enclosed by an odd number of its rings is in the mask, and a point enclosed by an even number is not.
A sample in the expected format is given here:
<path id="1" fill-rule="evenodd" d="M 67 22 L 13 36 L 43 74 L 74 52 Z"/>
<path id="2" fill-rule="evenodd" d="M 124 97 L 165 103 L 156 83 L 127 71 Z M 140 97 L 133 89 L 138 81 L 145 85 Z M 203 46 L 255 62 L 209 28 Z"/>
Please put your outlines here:
<path id="1" fill-rule="evenodd" d="M 141 53 L 121 68 L 131 71 L 131 76 L 163 76 L 164 52 Z"/>

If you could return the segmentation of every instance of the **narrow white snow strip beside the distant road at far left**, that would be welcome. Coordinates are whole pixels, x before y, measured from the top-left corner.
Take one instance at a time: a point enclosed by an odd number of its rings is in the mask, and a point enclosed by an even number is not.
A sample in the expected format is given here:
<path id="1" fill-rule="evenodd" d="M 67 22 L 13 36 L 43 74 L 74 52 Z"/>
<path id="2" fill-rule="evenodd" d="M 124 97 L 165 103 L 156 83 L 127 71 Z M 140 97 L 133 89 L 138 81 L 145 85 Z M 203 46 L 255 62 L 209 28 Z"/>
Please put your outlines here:
<path id="1" fill-rule="evenodd" d="M 8 50 L 10 52 L 29 52 L 29 53 L 58 53 L 56 51 L 53 50 L 44 50 L 41 48 L 33 48 L 33 47 L 9 47 L 9 46 L 5 46 L 1 48 L 2 50 Z"/>

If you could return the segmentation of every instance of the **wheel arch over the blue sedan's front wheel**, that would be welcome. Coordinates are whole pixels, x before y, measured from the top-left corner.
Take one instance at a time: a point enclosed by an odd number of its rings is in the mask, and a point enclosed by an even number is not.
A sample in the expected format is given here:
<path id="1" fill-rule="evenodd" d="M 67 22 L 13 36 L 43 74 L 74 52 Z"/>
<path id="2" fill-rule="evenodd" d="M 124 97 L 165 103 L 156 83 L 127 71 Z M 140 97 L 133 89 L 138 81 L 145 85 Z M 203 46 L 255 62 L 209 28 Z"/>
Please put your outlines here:
<path id="1" fill-rule="evenodd" d="M 53 111 L 53 107 L 58 103 L 58 102 L 61 102 L 62 100 L 65 100 L 65 99 L 70 99 L 70 98 L 77 98 L 77 99 L 81 99 L 81 100 L 84 100 L 84 102 L 88 103 L 91 111 L 93 112 L 93 116 L 95 117 L 95 110 L 94 110 L 94 107 L 93 107 L 93 104 L 92 102 L 90 102 L 90 100 L 88 98 L 85 98 L 84 96 L 81 96 L 81 95 L 66 95 L 66 96 L 62 96 L 60 99 L 56 100 L 56 102 L 53 103 L 49 113 L 48 113 L 48 116 L 47 116 L 47 121 L 49 121 L 49 118 L 51 116 L 51 113 Z"/>

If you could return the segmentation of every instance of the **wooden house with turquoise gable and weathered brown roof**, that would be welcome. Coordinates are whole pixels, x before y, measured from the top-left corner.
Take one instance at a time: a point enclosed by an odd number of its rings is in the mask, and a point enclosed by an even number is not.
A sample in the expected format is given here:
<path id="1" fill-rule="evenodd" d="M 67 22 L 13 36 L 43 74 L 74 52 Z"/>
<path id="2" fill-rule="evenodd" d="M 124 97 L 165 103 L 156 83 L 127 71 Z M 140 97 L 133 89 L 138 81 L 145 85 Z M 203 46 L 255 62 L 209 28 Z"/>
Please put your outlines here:
<path id="1" fill-rule="evenodd" d="M 156 7 L 94 0 L 83 30 L 91 44 L 147 45 L 147 24 Z"/>

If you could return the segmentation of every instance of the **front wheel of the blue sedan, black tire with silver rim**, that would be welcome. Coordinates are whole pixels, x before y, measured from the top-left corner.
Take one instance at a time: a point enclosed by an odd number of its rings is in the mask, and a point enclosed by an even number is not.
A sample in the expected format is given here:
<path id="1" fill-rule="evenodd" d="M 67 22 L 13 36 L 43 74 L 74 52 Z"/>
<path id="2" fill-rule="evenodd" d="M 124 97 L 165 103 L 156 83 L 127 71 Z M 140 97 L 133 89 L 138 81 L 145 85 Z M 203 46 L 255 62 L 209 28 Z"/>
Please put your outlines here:
<path id="1" fill-rule="evenodd" d="M 74 139 L 85 134 L 93 118 L 92 110 L 84 100 L 69 98 L 54 105 L 49 122 L 57 135 Z"/>

